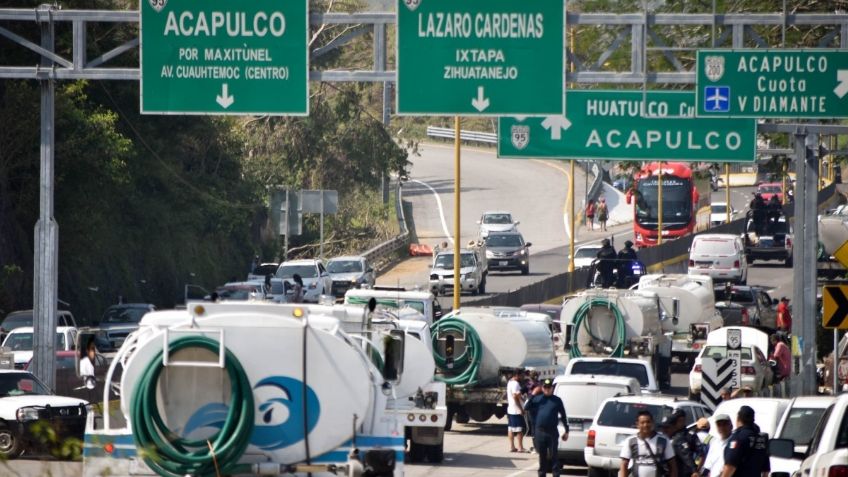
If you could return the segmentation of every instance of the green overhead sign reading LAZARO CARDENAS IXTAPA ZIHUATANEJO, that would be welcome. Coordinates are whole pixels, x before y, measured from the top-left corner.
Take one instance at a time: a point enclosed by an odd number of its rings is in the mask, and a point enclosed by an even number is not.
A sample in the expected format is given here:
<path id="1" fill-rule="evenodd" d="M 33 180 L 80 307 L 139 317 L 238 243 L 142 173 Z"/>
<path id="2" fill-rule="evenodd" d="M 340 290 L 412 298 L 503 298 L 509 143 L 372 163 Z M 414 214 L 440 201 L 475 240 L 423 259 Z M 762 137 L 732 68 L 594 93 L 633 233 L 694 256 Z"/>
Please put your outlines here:
<path id="1" fill-rule="evenodd" d="M 562 114 L 563 0 L 399 0 L 397 112 Z"/>

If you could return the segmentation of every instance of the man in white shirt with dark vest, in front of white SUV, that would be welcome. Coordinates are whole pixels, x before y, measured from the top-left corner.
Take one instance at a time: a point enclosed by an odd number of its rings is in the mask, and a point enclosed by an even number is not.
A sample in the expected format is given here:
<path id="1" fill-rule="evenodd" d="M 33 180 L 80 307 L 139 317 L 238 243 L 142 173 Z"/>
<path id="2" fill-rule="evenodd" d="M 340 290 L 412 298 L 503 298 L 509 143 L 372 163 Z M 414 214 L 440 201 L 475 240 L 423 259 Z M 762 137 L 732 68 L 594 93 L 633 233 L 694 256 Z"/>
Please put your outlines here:
<path id="1" fill-rule="evenodd" d="M 639 411 L 636 428 L 639 432 L 622 442 L 619 477 L 677 477 L 671 440 L 654 432 L 650 411 Z"/>

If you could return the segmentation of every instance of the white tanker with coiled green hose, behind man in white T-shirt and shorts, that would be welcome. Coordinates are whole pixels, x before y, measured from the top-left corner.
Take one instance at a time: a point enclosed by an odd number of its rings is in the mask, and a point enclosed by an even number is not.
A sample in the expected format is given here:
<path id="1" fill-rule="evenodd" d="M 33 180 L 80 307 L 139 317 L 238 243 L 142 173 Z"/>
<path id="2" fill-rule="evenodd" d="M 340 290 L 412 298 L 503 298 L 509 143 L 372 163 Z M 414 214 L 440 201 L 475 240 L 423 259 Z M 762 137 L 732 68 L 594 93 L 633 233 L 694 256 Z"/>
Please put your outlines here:
<path id="1" fill-rule="evenodd" d="M 447 430 L 455 419 L 506 414 L 506 384 L 516 370 L 556 377 L 550 317 L 517 308 L 462 308 L 433 326 L 436 379 L 447 384 Z"/>

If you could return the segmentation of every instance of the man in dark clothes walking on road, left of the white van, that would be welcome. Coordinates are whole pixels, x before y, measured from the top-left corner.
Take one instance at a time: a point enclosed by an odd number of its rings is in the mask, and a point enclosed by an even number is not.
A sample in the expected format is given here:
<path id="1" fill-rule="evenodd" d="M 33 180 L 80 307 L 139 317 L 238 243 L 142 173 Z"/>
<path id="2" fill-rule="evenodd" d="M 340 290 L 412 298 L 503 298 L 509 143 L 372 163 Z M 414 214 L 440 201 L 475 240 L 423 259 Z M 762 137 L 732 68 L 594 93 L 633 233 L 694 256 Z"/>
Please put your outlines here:
<path id="1" fill-rule="evenodd" d="M 557 424 L 562 422 L 565 428 L 562 440 L 568 440 L 568 417 L 562 399 L 554 396 L 554 384 L 550 379 L 542 382 L 542 394 L 536 394 L 527 403 L 527 412 L 533 416 L 533 445 L 539 453 L 539 477 L 545 477 L 548 469 L 553 477 L 559 477 Z"/>

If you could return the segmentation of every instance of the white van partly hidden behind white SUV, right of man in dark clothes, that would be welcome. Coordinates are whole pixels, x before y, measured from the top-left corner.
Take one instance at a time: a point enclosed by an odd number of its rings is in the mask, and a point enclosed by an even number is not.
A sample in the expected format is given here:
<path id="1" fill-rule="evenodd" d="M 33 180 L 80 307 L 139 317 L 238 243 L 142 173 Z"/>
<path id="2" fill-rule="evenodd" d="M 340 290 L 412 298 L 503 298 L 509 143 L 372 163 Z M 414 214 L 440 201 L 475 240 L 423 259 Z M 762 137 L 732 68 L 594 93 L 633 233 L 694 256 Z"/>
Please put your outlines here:
<path id="1" fill-rule="evenodd" d="M 559 441 L 559 458 L 569 465 L 586 465 L 583 449 L 586 432 L 592 425 L 598 407 L 607 398 L 640 395 L 639 381 L 625 376 L 571 375 L 554 380 L 554 395 L 565 404 L 568 415 L 568 440 Z M 565 431 L 559 426 L 560 435 Z"/>

